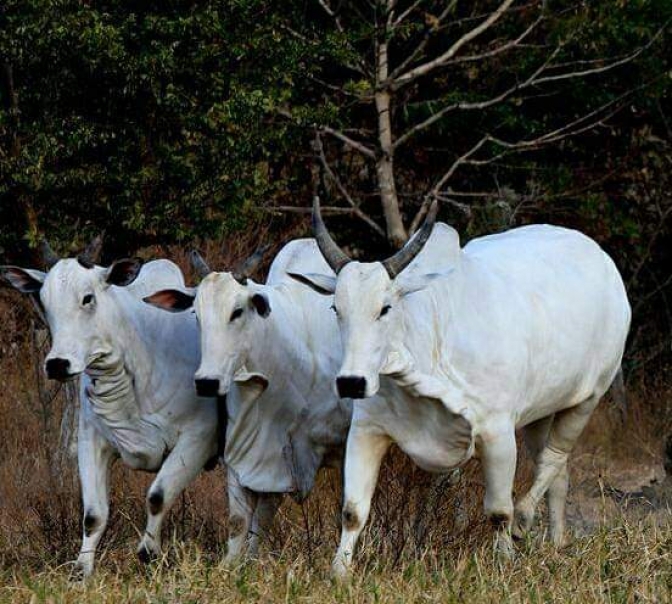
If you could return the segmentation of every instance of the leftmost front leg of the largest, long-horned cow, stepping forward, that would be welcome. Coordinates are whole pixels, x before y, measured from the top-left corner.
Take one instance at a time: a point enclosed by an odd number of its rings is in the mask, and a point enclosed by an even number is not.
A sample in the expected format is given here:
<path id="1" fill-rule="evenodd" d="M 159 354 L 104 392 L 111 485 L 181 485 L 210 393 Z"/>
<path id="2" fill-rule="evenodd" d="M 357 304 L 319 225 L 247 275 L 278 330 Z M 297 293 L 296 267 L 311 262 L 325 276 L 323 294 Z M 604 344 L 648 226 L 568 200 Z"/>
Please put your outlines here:
<path id="1" fill-rule="evenodd" d="M 347 575 L 352 554 L 369 517 L 378 472 L 392 441 L 386 434 L 352 424 L 345 452 L 341 543 L 332 563 L 335 577 Z"/>

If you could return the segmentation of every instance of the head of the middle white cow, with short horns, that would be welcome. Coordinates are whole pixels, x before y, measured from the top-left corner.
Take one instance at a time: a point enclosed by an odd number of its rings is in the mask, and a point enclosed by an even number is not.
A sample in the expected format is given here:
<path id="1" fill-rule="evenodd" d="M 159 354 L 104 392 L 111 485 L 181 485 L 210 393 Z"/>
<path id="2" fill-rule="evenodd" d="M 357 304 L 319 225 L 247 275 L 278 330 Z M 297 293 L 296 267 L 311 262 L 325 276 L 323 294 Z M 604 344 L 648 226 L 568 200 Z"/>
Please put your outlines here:
<path id="1" fill-rule="evenodd" d="M 192 262 L 201 276 L 205 275 L 195 296 L 169 289 L 146 297 L 145 302 L 171 312 L 194 307 L 201 331 L 196 390 L 201 396 L 224 395 L 231 382 L 238 380 L 237 374 L 257 337 L 255 327 L 269 316 L 271 304 L 265 288 L 247 279 L 252 268 L 250 259 L 243 271 L 233 273 L 210 272 L 200 256 L 192 256 Z"/>

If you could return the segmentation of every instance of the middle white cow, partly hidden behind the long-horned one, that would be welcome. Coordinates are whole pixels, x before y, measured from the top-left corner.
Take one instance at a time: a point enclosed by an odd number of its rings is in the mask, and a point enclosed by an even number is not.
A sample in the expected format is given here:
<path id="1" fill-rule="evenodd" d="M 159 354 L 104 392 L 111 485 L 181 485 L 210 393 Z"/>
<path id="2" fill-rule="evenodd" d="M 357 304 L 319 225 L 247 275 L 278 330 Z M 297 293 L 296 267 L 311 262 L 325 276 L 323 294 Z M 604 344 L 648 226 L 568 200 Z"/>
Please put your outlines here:
<path id="1" fill-rule="evenodd" d="M 183 289 L 146 298 L 166 310 L 191 307 L 201 327 L 202 392 L 227 395 L 227 562 L 254 556 L 281 493 L 305 497 L 317 470 L 342 457 L 352 403 L 332 387 L 342 362 L 331 301 L 288 271 L 330 273 L 314 240 L 275 258 L 265 285 L 210 273 L 197 295 Z"/>

